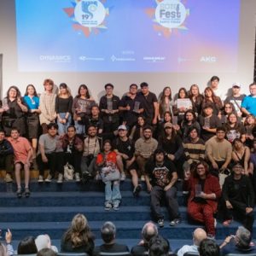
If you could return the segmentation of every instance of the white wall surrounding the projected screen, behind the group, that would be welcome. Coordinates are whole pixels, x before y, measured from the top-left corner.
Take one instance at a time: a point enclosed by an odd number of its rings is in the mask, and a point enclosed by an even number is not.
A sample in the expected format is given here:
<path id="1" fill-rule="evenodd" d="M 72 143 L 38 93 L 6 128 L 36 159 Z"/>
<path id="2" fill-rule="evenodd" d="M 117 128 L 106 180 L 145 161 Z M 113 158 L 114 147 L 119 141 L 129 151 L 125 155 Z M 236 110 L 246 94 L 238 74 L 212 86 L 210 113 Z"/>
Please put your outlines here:
<path id="1" fill-rule="evenodd" d="M 226 1 L 232 4 L 232 0 Z M 191 84 L 199 84 L 203 90 L 212 75 L 220 77 L 221 88 L 224 92 L 230 84 L 241 82 L 242 90 L 247 93 L 248 84 L 253 82 L 255 13 L 255 0 L 241 0 L 241 34 L 237 73 L 19 73 L 15 35 L 15 0 L 1 0 L 0 54 L 3 53 L 3 96 L 10 85 L 17 85 L 22 94 L 25 93 L 27 84 L 34 84 L 38 92 L 42 92 L 42 84 L 46 78 L 53 79 L 55 84 L 67 83 L 72 88 L 73 94 L 76 94 L 79 84 L 87 84 L 96 100 L 102 96 L 103 85 L 108 82 L 114 84 L 114 93 L 118 96 L 122 96 L 131 83 L 140 84 L 143 81 L 148 82 L 150 90 L 159 95 L 165 86 L 171 86 L 174 93 L 182 86 L 189 89 Z"/>

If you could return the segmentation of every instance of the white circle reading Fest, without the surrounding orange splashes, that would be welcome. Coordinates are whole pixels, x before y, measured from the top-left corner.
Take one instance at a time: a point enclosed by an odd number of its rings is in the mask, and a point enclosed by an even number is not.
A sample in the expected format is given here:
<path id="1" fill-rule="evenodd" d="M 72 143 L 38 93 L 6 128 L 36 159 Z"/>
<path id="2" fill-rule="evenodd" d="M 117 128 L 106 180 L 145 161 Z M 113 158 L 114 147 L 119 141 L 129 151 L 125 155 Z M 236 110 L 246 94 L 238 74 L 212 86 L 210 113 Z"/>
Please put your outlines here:
<path id="1" fill-rule="evenodd" d="M 175 28 L 183 24 L 187 11 L 178 0 L 164 0 L 157 5 L 154 15 L 161 26 Z"/>

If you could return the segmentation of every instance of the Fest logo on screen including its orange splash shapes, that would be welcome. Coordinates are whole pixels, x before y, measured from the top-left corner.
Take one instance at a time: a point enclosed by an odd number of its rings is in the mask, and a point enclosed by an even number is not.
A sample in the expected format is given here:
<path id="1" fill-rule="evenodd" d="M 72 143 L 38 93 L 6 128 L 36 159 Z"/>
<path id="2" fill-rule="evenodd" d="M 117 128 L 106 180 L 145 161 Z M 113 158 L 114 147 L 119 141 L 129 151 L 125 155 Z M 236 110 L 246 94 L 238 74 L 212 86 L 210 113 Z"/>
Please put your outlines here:
<path id="1" fill-rule="evenodd" d="M 171 37 L 172 33 L 186 31 L 186 18 L 189 9 L 186 9 L 185 1 L 180 0 L 155 0 L 156 7 L 146 9 L 148 17 L 153 19 L 153 28 L 164 37 Z"/>

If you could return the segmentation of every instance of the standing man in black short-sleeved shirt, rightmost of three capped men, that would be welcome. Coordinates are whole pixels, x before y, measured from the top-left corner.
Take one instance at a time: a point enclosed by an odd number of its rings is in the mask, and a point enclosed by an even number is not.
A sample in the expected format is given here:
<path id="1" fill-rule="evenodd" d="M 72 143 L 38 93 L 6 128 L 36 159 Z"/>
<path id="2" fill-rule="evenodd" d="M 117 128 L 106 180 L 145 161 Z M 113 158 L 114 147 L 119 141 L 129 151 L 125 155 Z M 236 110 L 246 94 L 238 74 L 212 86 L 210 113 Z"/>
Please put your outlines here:
<path id="1" fill-rule="evenodd" d="M 159 106 L 155 94 L 148 90 L 148 84 L 143 82 L 140 84 L 141 91 L 138 93 L 138 96 L 143 102 L 144 112 L 143 115 L 146 119 L 147 125 L 156 125 L 157 118 L 159 114 Z"/>

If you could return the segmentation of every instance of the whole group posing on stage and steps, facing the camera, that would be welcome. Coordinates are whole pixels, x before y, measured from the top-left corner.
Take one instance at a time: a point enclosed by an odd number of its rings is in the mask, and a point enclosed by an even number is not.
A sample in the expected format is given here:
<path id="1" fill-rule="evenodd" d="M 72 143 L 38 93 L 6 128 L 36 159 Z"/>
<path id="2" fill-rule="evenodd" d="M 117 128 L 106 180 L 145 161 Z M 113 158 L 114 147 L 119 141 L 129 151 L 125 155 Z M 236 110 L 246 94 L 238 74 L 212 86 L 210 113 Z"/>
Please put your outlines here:
<path id="1" fill-rule="evenodd" d="M 145 82 L 140 91 L 131 84 L 121 100 L 113 94 L 113 84 L 106 84 L 106 95 L 98 105 L 85 84 L 74 98 L 67 84 L 60 84 L 56 94 L 51 79 L 44 80 L 40 97 L 32 84 L 24 97 L 11 86 L 0 108 L 0 164 L 7 172 L 5 180 L 12 181 L 14 163 L 17 196 L 21 197 L 24 168 L 24 195 L 28 197 L 32 163 L 38 166 L 38 183 L 51 182 L 56 174 L 57 183 L 62 183 L 68 163 L 77 182 L 101 179 L 105 209 L 119 210 L 119 183 L 128 174 L 135 196 L 145 181 L 152 213 L 162 227 L 163 199 L 170 224 L 181 221 L 176 184 L 182 179 L 183 190 L 189 191 L 189 217 L 206 224 L 208 236 L 215 236 L 220 205 L 224 225 L 231 223 L 231 210 L 236 210 L 252 231 L 256 84 L 249 85 L 249 96 L 241 94 L 240 84 L 233 84 L 231 95 L 224 99 L 218 82 L 218 77 L 212 77 L 203 95 L 196 84 L 189 91 L 181 88 L 175 100 L 172 89 L 166 87 L 159 101 Z M 43 134 L 38 137 L 40 128 Z"/>

